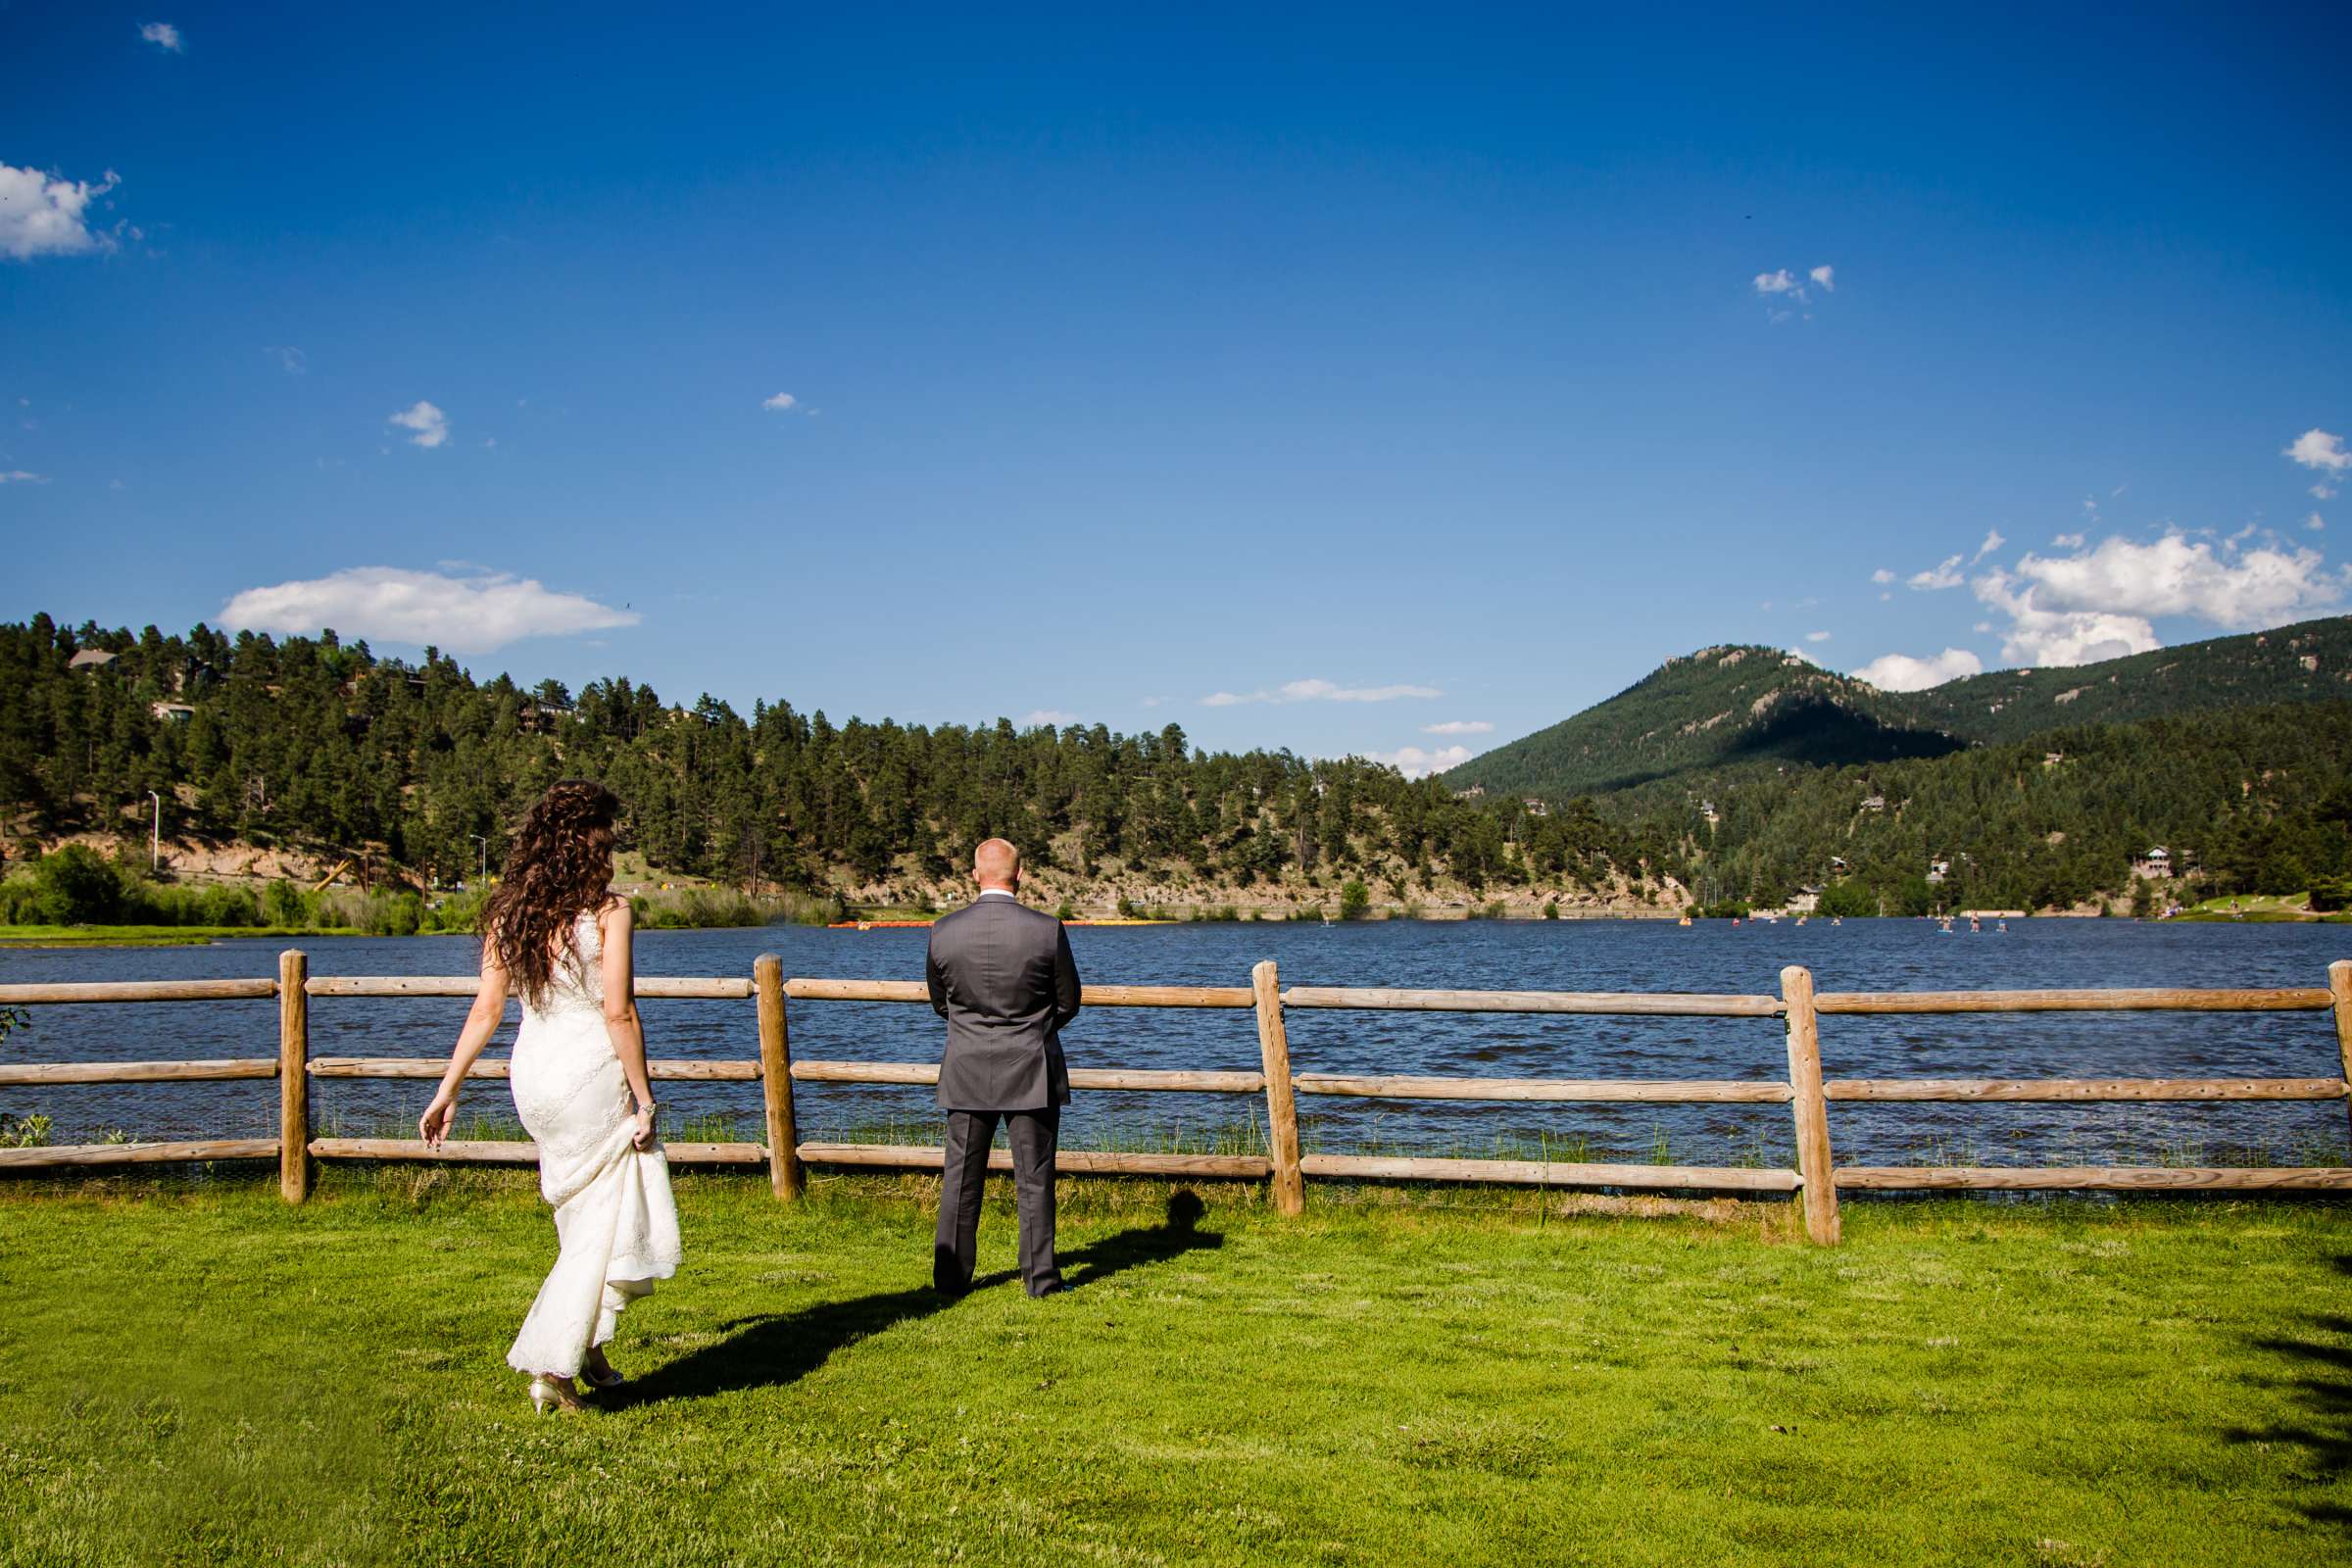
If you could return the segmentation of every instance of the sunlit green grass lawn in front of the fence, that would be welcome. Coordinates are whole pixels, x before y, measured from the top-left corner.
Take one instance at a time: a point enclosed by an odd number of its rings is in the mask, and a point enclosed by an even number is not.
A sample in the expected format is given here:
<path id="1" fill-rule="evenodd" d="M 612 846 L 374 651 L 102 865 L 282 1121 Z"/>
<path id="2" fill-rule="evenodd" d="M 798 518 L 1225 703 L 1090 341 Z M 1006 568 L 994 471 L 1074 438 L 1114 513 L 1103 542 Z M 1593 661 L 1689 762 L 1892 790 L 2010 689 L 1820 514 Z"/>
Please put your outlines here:
<path id="1" fill-rule="evenodd" d="M 529 1175 L 0 1187 L 0 1563 L 2319 1563 L 2336 1206 L 1569 1213 L 1070 1182 L 1077 1286 L 924 1288 L 931 1182 L 682 1175 L 635 1382 L 534 1418 Z M 59 1194 L 64 1192 L 64 1194 Z"/>

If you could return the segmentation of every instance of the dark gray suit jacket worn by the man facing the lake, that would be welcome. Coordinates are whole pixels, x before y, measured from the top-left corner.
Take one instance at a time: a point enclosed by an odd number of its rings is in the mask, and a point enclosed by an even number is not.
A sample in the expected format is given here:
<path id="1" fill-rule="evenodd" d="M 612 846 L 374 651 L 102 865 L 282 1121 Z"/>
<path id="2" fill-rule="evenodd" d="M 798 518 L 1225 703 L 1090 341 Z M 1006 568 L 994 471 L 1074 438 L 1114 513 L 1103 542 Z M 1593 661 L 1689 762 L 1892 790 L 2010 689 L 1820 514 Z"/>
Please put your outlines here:
<path id="1" fill-rule="evenodd" d="M 1077 961 L 1061 922 L 1011 898 L 978 898 L 931 926 L 931 1009 L 948 1020 L 943 1110 L 1070 1103 L 1061 1027 L 1077 1018 Z"/>

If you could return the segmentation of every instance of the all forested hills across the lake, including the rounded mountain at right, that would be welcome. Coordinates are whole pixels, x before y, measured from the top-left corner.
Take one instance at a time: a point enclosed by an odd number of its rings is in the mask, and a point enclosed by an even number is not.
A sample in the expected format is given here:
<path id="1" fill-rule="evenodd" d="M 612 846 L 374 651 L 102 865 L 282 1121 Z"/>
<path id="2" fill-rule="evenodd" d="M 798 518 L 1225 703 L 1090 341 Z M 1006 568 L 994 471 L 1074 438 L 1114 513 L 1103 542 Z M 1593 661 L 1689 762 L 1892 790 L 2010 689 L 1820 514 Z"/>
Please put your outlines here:
<path id="1" fill-rule="evenodd" d="M 2133 858 L 2157 844 L 2209 893 L 2288 893 L 2352 872 L 2352 705 L 2230 698 L 2319 696 L 2293 682 L 2314 675 L 2305 658 L 2333 668 L 2343 623 L 2321 632 L 2227 639 L 2251 663 L 2173 649 L 2171 668 L 2119 661 L 2131 670 L 2114 682 L 2070 672 L 2124 693 L 2112 701 L 2147 703 L 2143 686 L 2169 682 L 2169 701 L 2220 703 L 1997 745 L 1785 654 L 1708 649 L 1545 731 L 1613 788 L 1468 797 L 1472 769 L 1414 783 L 1362 759 L 1200 752 L 1174 724 L 833 724 L 788 703 L 680 708 L 626 677 L 524 689 L 334 635 L 38 618 L 0 625 L 0 823 L 12 858 L 75 832 L 143 839 L 155 790 L 167 839 L 456 882 L 485 851 L 496 870 L 548 780 L 586 773 L 628 802 L 626 846 L 652 865 L 769 889 L 948 891 L 969 846 L 1002 832 L 1065 884 L 1094 884 L 1096 905 L 1143 877 L 1197 905 L 1359 879 L 1392 907 L 1439 886 L 1522 912 L 1630 889 L 1675 907 L 1672 884 L 1759 905 L 1811 886 L 1851 912 L 2079 907 L 2131 900 Z"/>

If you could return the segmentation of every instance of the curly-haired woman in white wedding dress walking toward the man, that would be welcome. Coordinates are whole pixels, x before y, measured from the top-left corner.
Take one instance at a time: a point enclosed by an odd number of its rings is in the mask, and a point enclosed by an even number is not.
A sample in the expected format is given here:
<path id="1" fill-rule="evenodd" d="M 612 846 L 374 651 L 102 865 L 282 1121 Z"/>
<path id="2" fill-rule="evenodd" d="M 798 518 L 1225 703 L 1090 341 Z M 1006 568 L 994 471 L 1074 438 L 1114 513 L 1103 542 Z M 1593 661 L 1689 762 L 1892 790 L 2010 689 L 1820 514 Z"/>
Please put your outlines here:
<path id="1" fill-rule="evenodd" d="M 482 990 L 459 1030 L 433 1105 L 416 1121 L 440 1147 L 473 1060 L 522 997 L 510 1086 L 539 1143 L 539 1192 L 555 1206 L 555 1267 L 506 1352 L 532 1375 L 532 1406 L 581 1410 L 574 1378 L 609 1389 L 614 1316 L 677 1272 L 670 1164 L 654 1140 L 630 966 L 633 917 L 614 898 L 612 820 L 621 802 L 564 778 L 522 818 L 506 877 L 482 903 Z"/>

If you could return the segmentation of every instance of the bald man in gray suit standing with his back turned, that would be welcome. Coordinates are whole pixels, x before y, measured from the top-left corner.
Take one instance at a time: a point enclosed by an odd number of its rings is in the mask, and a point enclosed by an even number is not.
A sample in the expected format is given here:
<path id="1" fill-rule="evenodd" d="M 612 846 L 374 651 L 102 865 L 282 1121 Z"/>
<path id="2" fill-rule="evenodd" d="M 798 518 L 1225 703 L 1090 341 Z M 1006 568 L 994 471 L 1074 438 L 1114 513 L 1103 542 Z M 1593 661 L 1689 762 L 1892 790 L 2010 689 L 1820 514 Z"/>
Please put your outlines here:
<path id="1" fill-rule="evenodd" d="M 971 879 L 981 896 L 931 926 L 924 959 L 931 1009 L 948 1020 L 938 1063 L 948 1159 L 931 1284 L 941 1295 L 971 1288 L 981 1182 L 1002 1117 L 1014 1145 L 1021 1281 L 1030 1295 L 1054 1295 L 1063 1288 L 1054 1262 L 1054 1143 L 1070 1103 L 1061 1027 L 1077 1018 L 1077 961 L 1061 922 L 1021 905 L 1018 849 L 988 839 L 971 856 Z"/>

